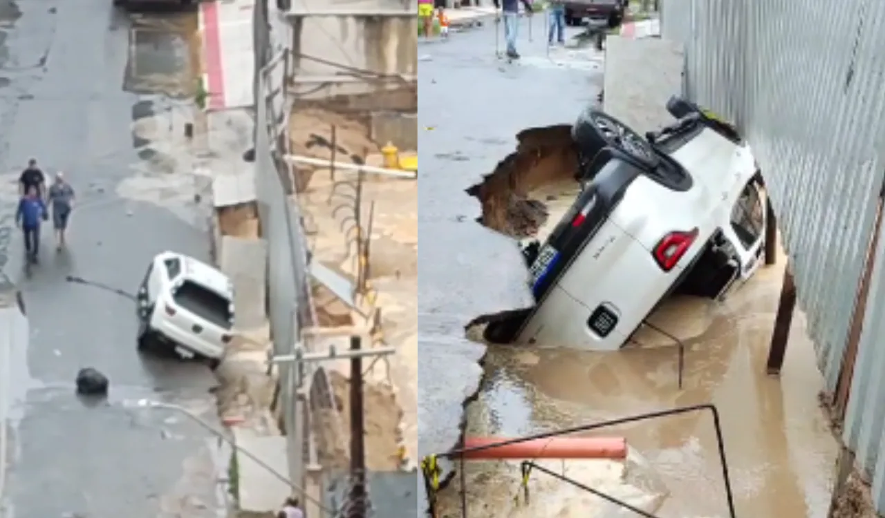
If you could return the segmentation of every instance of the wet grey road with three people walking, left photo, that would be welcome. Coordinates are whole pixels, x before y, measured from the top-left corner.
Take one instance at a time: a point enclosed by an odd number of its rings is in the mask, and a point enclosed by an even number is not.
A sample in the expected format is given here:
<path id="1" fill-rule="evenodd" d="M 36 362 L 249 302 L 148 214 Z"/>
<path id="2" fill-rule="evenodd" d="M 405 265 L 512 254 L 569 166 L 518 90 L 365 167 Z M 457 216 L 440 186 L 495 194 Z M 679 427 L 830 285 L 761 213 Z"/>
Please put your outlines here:
<path id="1" fill-rule="evenodd" d="M 12 210 L 30 156 L 44 171 L 66 171 L 79 194 L 69 250 L 56 254 L 44 231 L 42 263 L 23 283 L 31 339 L 8 359 L 5 516 L 214 515 L 205 430 L 173 411 L 123 407 L 164 400 L 212 420 L 212 373 L 137 354 L 133 302 L 65 282 L 74 275 L 132 292 L 152 255 L 207 252 L 204 233 L 170 210 L 115 194 L 151 167 L 133 146 L 140 97 L 121 86 L 128 28 L 110 0 L 0 0 L 0 203 Z M 75 397 L 86 366 L 111 378 L 109 404 Z"/>

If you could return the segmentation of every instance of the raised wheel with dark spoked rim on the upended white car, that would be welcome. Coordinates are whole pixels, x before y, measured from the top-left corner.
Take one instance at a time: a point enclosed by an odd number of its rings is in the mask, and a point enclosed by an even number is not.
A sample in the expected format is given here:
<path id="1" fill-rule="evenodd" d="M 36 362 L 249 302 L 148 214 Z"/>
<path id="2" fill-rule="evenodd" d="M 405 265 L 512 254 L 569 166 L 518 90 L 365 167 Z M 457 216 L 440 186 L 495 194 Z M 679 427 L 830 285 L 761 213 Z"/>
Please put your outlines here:
<path id="1" fill-rule="evenodd" d="M 660 162 L 649 141 L 617 118 L 592 106 L 581 111 L 572 126 L 572 138 L 587 160 L 609 147 L 626 153 L 645 167 L 654 168 Z"/>

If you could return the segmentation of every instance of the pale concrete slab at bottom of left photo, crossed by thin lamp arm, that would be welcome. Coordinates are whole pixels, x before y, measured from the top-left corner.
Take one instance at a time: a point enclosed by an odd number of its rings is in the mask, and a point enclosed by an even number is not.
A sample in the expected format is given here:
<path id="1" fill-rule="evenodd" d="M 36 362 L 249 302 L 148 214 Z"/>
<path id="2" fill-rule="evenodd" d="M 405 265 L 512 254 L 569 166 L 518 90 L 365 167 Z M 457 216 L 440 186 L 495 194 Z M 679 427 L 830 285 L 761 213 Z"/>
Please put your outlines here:
<path id="1" fill-rule="evenodd" d="M 264 462 L 274 471 L 289 478 L 285 437 L 259 437 L 254 431 L 235 427 L 234 440 L 237 446 L 236 466 L 237 488 L 240 509 L 246 513 L 268 513 L 279 510 L 282 502 L 289 497 L 291 488 L 274 476 L 267 468 L 242 453 L 245 450 Z"/>

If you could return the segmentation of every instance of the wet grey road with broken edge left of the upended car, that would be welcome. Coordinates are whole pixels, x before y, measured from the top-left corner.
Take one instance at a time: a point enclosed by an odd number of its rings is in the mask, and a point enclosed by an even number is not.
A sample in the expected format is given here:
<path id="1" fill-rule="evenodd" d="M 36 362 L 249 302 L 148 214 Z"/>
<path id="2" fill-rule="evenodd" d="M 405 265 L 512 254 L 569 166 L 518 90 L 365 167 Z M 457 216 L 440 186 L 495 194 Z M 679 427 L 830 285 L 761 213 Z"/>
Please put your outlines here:
<path id="1" fill-rule="evenodd" d="M 481 314 L 526 307 L 531 295 L 516 243 L 474 222 L 465 194 L 531 126 L 569 123 L 602 83 L 593 50 L 552 49 L 543 18 L 520 27 L 519 64 L 497 59 L 494 24 L 419 42 L 419 451 L 447 451 L 462 404 L 476 390 L 484 347 L 464 325 Z M 573 36 L 577 29 L 569 29 Z M 504 49 L 503 35 L 499 35 Z M 428 237 L 432 236 L 432 237 Z"/>

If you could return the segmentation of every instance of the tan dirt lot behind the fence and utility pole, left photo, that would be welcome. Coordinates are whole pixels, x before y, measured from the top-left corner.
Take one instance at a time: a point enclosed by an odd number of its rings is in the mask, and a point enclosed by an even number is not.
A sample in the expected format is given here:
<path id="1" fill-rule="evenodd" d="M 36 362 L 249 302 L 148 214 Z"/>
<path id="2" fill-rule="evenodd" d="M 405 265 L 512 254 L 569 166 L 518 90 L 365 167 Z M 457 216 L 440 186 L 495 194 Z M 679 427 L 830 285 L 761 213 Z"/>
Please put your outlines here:
<path id="1" fill-rule="evenodd" d="M 379 152 L 378 143 L 370 139 L 364 124 L 331 110 L 294 112 L 289 135 L 293 153 L 337 163 L 374 164 Z M 355 225 L 359 220 L 366 231 L 369 208 L 374 203 L 366 277 L 377 295 L 375 305 L 384 316 L 384 343 L 396 347 L 397 354 L 389 360 L 389 369 L 382 365 L 387 362 L 373 363 L 369 359 L 364 363 L 366 466 L 375 471 L 393 471 L 401 468 L 403 449 L 417 443 L 417 437 L 409 433 L 414 428 L 410 423 L 417 420 L 410 395 L 417 380 L 413 369 L 406 365 L 417 346 L 405 332 L 414 327 L 405 316 L 417 298 L 417 195 L 411 180 L 366 175 L 357 209 L 356 180 L 353 171 L 319 167 L 299 167 L 296 171 L 298 200 L 313 259 L 351 282 L 358 270 Z M 314 283 L 312 289 L 320 327 L 357 324 L 359 317 L 335 293 L 319 283 Z M 413 318 L 413 307 L 411 314 Z M 350 461 L 350 369 L 346 363 L 325 367 L 327 382 L 321 385 L 329 386 L 322 387 L 320 396 L 312 396 L 312 431 L 322 466 L 341 471 Z M 316 385 L 315 378 L 315 389 Z"/>

